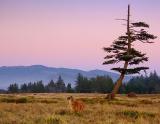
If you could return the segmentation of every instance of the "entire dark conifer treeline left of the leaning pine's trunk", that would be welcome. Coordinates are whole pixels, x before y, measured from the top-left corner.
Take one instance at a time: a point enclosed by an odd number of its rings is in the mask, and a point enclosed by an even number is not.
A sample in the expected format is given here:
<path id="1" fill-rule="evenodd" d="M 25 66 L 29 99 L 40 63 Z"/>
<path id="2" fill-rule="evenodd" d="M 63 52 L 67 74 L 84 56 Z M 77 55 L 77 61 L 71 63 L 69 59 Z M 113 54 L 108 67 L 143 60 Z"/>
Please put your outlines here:
<path id="1" fill-rule="evenodd" d="M 65 85 L 61 76 L 54 82 L 51 80 L 47 85 L 44 85 L 42 81 L 24 83 L 18 85 L 17 83 L 11 84 L 8 87 L 8 93 L 107 93 L 113 88 L 113 81 L 110 77 L 97 76 L 96 78 L 88 79 L 81 74 L 78 74 L 76 86 L 72 88 L 71 84 Z"/>

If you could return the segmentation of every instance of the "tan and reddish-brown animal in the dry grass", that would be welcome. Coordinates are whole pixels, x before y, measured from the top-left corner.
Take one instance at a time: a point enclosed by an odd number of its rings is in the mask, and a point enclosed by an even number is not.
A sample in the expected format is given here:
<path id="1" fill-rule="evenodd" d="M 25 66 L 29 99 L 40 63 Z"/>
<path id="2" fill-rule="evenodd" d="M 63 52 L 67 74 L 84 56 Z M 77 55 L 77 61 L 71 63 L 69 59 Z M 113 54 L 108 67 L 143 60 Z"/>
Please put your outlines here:
<path id="1" fill-rule="evenodd" d="M 67 97 L 67 100 L 71 111 L 82 112 L 84 110 L 85 105 L 82 101 L 74 99 L 72 96 Z"/>

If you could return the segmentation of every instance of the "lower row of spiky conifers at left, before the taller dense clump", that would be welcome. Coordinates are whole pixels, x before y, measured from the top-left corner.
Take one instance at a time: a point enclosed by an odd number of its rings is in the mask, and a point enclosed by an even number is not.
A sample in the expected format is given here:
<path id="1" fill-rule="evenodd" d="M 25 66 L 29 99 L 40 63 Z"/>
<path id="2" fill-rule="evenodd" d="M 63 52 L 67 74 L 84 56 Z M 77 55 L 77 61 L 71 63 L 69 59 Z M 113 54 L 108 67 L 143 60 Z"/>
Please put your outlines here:
<path id="1" fill-rule="evenodd" d="M 24 83 L 18 85 L 17 83 L 10 84 L 8 87 L 9 93 L 60 93 L 60 92 L 73 92 L 71 84 L 65 85 L 61 76 L 54 82 L 51 80 L 47 85 L 44 85 L 42 81 Z"/>

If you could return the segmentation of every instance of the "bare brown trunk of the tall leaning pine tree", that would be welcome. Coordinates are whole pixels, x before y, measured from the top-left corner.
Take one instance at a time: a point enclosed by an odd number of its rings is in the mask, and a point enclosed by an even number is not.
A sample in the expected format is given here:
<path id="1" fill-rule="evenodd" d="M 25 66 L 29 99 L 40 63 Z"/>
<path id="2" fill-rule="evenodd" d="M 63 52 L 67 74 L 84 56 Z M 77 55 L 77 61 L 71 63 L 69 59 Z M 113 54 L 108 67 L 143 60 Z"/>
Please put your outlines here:
<path id="1" fill-rule="evenodd" d="M 130 34 L 130 5 L 128 5 L 128 15 L 127 15 L 127 35 L 128 35 L 128 49 L 127 49 L 127 54 L 130 54 L 130 49 L 131 49 L 131 34 Z M 128 67 L 128 61 L 125 61 L 123 69 L 127 69 Z M 118 90 L 120 86 L 122 85 L 122 81 L 125 76 L 125 71 L 121 72 L 121 75 L 117 82 L 115 83 L 115 86 L 113 88 L 113 91 L 107 95 L 107 99 L 111 100 L 114 99 L 115 95 L 118 93 Z"/>

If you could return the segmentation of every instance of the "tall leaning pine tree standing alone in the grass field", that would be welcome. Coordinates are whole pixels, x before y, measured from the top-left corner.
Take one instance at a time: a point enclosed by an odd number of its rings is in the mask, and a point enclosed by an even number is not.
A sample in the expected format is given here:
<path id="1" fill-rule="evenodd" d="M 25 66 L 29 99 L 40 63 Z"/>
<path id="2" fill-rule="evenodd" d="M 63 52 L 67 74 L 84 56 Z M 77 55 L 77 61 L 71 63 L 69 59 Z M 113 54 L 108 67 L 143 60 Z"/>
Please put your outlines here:
<path id="1" fill-rule="evenodd" d="M 117 40 L 113 42 L 110 47 L 105 47 L 104 51 L 108 55 L 104 58 L 103 64 L 116 64 L 124 62 L 123 67 L 112 68 L 111 70 L 120 73 L 120 77 L 117 80 L 112 93 L 108 94 L 107 98 L 112 99 L 118 92 L 119 87 L 122 85 L 122 81 L 125 75 L 140 73 L 140 71 L 146 71 L 148 67 L 132 67 L 132 65 L 139 65 L 145 61 L 148 61 L 145 53 L 136 50 L 133 47 L 133 43 L 140 41 L 142 43 L 153 43 L 150 40 L 156 38 L 156 36 L 149 34 L 146 29 L 149 25 L 145 22 L 130 22 L 130 5 L 128 5 L 127 19 L 122 19 L 127 22 L 127 32 L 123 36 L 119 36 Z M 131 66 L 128 68 L 128 66 Z"/>

